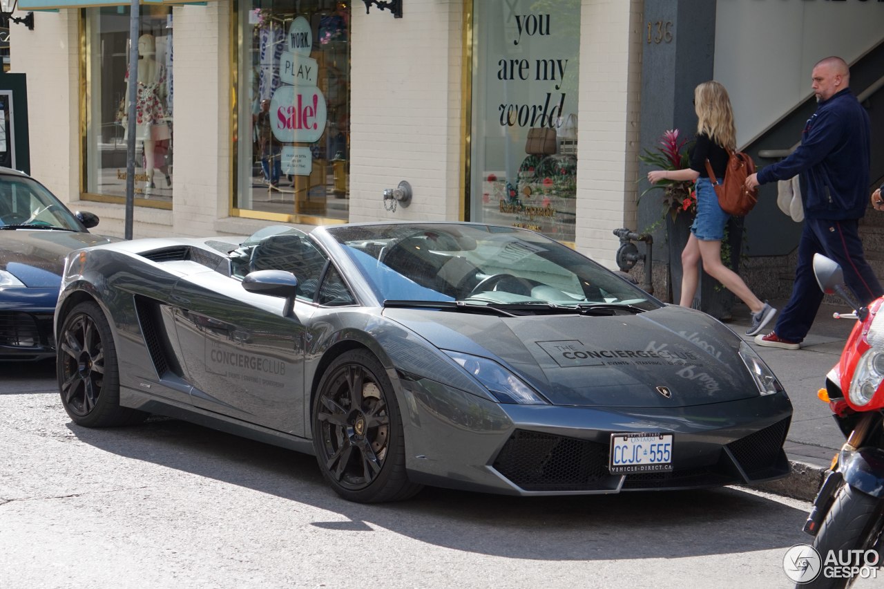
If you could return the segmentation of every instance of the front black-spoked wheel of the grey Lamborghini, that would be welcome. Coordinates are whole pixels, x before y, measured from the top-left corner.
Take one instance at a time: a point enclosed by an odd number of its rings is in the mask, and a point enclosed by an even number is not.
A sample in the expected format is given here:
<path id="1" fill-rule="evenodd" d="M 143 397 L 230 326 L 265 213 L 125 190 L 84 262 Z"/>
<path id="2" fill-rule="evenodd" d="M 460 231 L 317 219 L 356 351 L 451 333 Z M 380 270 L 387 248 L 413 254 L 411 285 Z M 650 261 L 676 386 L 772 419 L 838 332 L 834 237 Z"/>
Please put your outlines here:
<path id="1" fill-rule="evenodd" d="M 408 480 L 396 395 L 367 350 L 338 356 L 319 382 L 313 447 L 332 489 L 349 501 L 402 501 L 421 490 Z"/>

